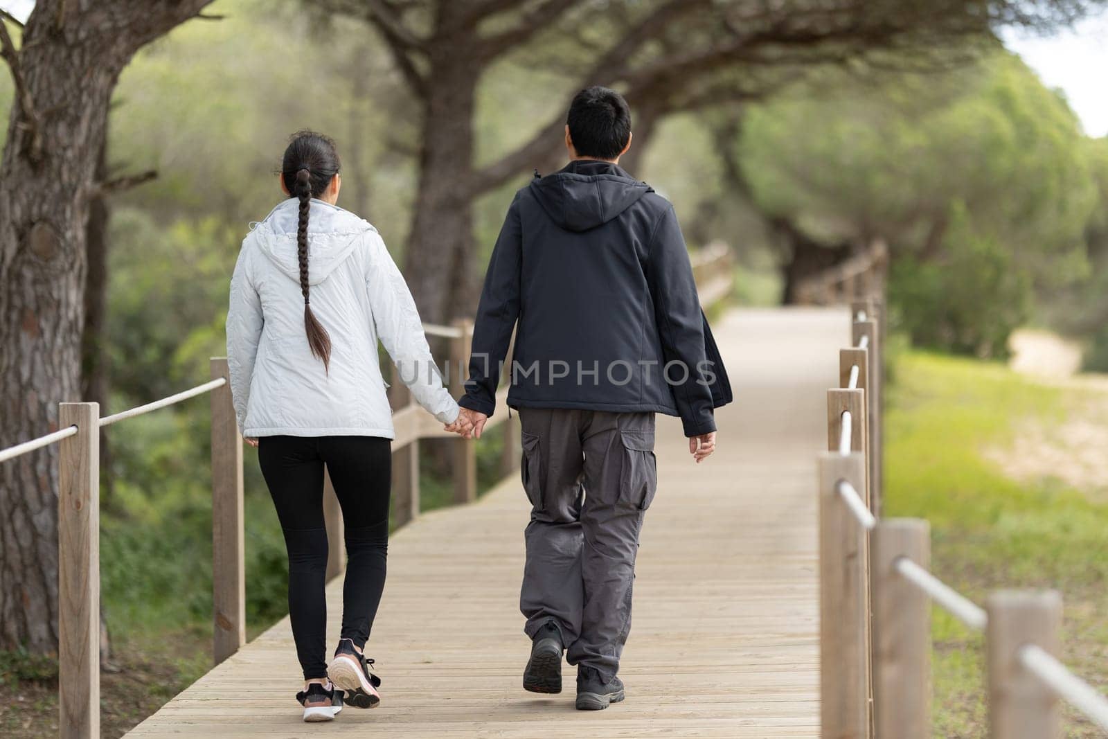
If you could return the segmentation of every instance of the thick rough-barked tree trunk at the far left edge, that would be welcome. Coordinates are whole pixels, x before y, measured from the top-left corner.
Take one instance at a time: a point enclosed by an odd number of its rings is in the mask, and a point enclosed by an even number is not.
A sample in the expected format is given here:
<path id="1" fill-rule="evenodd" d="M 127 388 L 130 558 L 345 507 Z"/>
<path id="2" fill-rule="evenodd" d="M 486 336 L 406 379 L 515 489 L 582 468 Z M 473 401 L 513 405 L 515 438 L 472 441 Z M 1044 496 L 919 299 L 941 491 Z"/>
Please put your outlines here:
<path id="1" fill-rule="evenodd" d="M 57 429 L 80 400 L 85 227 L 109 101 L 144 43 L 206 0 L 40 0 L 9 53 L 0 160 L 0 449 Z M 58 640 L 58 448 L 0 464 L 0 648 Z"/>

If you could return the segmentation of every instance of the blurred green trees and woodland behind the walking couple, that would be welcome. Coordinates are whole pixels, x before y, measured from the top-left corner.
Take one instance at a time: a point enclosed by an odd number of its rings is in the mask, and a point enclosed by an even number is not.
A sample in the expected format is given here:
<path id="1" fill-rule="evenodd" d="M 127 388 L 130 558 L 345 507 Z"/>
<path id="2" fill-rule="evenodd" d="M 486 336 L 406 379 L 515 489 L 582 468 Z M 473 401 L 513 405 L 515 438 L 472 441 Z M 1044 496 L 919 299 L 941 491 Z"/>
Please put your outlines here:
<path id="1" fill-rule="evenodd" d="M 33 394 L 12 369 L 28 356 L 12 296 L 29 227 L 0 205 L 0 318 L 19 338 L 0 343 L 0 447 L 48 431 L 60 399 L 101 398 L 106 413 L 206 379 L 238 245 L 280 199 L 276 167 L 300 129 L 338 141 L 340 204 L 381 232 L 424 319 L 469 315 L 511 194 L 533 168 L 561 166 L 564 109 L 593 83 L 627 94 L 624 164 L 674 201 L 690 246 L 736 250 L 738 301 L 789 299 L 800 277 L 882 237 L 894 318 L 919 346 L 1003 357 L 1014 328 L 1038 324 L 1108 369 L 1108 144 L 994 37 L 1099 4 L 217 0 L 205 10 L 217 20 L 144 35 L 117 84 L 109 75 L 110 113 L 105 92 L 104 126 L 81 150 L 82 182 L 106 186 L 66 206 L 64 269 L 29 283 L 44 289 L 43 315 L 69 316 L 54 343 L 35 345 L 62 347 L 50 361 L 64 381 L 34 380 Z M 33 144 L 14 93 L 0 79 L 6 163 Z M 61 217 L 61 195 L 43 195 L 54 185 L 8 172 L 4 197 Z M 188 403 L 107 435 L 105 616 L 140 651 L 167 633 L 206 648 L 207 412 Z M 285 561 L 250 454 L 247 596 L 260 627 L 284 613 Z M 7 520 L 54 466 L 44 453 L 19 480 L 0 471 Z M 54 552 L 40 503 L 32 538 Z M 16 528 L 3 536 L 14 546 Z M 29 643 L 11 632 L 0 647 Z M 185 673 L 204 661 L 187 659 Z"/>

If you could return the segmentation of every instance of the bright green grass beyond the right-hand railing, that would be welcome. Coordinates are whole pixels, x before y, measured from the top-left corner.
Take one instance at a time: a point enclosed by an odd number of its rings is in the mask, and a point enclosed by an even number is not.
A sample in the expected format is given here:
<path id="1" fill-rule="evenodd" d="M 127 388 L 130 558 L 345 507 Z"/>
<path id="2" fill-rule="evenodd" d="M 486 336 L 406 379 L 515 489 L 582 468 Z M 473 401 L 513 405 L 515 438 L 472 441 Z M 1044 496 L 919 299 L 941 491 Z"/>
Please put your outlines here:
<path id="1" fill-rule="evenodd" d="M 988 459 L 1022 424 L 1053 428 L 1089 389 L 1025 380 L 1001 365 L 902 352 L 888 397 L 885 515 L 932 524 L 936 575 L 977 603 L 999 587 L 1054 587 L 1064 657 L 1108 686 L 1108 505 L 1051 475 L 1016 481 Z M 1108 423 L 1108 419 L 1105 420 Z M 1108 450 L 1106 450 L 1108 453 Z M 986 736 L 982 640 L 935 609 L 934 736 Z M 1101 736 L 1073 710 L 1067 737 Z"/>

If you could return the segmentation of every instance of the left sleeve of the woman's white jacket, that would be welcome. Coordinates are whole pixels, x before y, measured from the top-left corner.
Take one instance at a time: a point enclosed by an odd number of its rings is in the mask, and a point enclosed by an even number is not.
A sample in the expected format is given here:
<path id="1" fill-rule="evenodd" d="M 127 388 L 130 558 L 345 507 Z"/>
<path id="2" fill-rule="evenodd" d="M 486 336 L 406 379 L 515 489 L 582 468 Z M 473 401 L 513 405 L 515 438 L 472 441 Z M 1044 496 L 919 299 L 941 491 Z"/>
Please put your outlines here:
<path id="1" fill-rule="evenodd" d="M 227 369 L 239 432 L 245 430 L 254 361 L 258 356 L 258 341 L 265 325 L 261 299 L 249 274 L 250 248 L 244 245 L 238 253 L 238 261 L 230 277 L 230 305 L 227 307 Z"/>

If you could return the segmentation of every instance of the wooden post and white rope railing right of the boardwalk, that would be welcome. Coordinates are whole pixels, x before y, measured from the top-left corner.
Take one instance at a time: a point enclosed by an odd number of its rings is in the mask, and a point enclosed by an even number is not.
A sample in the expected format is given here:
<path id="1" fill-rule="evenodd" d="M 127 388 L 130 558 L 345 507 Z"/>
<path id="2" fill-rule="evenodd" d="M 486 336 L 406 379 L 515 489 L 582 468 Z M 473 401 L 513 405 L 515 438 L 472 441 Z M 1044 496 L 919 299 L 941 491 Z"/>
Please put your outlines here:
<path id="1" fill-rule="evenodd" d="M 1058 735 L 1056 700 L 1108 731 L 1108 698 L 1051 655 L 1057 593 L 998 591 L 983 608 L 930 572 L 925 521 L 883 520 L 874 507 L 881 494 L 873 474 L 881 455 L 879 331 L 872 306 L 852 309 L 851 318 L 854 340 L 840 353 L 843 387 L 828 392 L 830 451 L 820 462 L 822 736 L 930 737 L 930 604 L 985 633 L 993 736 Z M 1042 712 L 1028 714 L 1028 705 Z"/>

